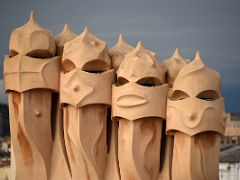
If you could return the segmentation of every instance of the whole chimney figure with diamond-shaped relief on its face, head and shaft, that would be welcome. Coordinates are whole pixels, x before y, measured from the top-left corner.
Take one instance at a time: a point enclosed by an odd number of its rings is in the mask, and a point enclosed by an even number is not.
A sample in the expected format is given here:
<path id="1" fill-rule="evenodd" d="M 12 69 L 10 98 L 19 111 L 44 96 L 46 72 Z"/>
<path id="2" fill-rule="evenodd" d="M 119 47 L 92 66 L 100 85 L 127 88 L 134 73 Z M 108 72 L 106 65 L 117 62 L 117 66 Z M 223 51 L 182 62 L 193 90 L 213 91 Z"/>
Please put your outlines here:
<path id="1" fill-rule="evenodd" d="M 60 100 L 72 179 L 103 179 L 114 70 L 107 45 L 88 28 L 64 45 Z"/>

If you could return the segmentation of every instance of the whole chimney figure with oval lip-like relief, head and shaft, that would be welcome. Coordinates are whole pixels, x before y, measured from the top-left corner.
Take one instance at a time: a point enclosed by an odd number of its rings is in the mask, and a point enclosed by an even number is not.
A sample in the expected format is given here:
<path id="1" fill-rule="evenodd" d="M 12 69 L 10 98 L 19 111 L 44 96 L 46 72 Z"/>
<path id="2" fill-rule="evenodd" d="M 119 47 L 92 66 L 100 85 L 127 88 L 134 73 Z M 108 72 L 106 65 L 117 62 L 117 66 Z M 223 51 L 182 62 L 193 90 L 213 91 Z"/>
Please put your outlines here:
<path id="1" fill-rule="evenodd" d="M 168 85 L 156 54 L 141 42 L 130 51 L 113 85 L 113 121 L 119 121 L 121 179 L 154 180 L 159 175 L 162 118 Z"/>

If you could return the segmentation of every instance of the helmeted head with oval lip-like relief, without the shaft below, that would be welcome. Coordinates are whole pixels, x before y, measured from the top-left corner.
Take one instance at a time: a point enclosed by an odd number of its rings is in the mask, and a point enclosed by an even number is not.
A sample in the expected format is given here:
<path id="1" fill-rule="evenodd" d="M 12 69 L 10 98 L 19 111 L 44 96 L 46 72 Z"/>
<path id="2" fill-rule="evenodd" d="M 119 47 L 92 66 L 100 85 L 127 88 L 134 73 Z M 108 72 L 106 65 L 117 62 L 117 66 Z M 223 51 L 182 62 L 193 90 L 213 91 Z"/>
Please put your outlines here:
<path id="1" fill-rule="evenodd" d="M 165 70 L 141 43 L 125 56 L 113 85 L 113 117 L 165 117 Z M 163 85 L 164 84 L 164 85 Z M 134 113 L 133 113 L 134 112 Z"/>

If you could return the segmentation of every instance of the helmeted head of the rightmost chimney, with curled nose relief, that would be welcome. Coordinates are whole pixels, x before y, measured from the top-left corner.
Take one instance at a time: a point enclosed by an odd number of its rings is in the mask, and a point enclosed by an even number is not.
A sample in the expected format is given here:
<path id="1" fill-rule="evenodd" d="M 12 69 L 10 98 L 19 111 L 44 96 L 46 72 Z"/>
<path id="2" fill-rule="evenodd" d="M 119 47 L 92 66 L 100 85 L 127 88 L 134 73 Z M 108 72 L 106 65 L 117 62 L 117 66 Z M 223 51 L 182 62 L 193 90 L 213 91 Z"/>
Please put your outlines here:
<path id="1" fill-rule="evenodd" d="M 195 135 L 203 131 L 224 133 L 224 100 L 220 75 L 205 66 L 199 54 L 178 74 L 168 99 L 167 132 Z"/>

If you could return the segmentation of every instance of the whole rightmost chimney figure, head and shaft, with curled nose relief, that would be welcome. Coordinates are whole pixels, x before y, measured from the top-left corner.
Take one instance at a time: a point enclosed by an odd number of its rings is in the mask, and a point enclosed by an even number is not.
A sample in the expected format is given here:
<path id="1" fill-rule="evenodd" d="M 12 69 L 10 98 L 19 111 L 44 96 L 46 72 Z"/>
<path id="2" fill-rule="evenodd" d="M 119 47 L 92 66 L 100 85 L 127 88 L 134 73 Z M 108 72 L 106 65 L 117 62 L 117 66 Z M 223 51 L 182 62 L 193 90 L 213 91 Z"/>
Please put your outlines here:
<path id="1" fill-rule="evenodd" d="M 167 133 L 174 135 L 172 179 L 217 180 L 225 129 L 220 75 L 196 57 L 180 70 L 168 99 Z"/>

